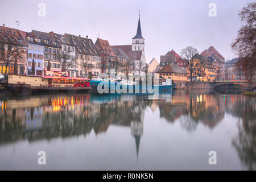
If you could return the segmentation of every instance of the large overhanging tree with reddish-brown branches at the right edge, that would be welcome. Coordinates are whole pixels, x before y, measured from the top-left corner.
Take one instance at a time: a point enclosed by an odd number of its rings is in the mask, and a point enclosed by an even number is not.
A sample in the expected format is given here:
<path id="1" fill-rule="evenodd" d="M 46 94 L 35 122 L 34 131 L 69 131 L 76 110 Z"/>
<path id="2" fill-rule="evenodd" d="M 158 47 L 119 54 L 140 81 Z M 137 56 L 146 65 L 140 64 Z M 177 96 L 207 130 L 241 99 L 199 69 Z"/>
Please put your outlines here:
<path id="1" fill-rule="evenodd" d="M 256 3 L 247 3 L 238 16 L 245 25 L 238 31 L 231 47 L 238 55 L 238 69 L 242 69 L 247 80 L 253 81 L 256 74 Z"/>

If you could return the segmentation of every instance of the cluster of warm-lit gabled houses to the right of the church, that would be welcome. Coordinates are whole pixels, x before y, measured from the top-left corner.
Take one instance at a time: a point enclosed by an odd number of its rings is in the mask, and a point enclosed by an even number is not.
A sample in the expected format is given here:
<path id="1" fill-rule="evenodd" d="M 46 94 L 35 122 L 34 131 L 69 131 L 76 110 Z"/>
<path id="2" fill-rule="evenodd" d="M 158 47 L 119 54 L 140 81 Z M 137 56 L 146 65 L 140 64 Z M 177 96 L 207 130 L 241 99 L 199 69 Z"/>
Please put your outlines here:
<path id="1" fill-rule="evenodd" d="M 225 58 L 213 47 L 193 56 L 197 68 L 192 73 L 192 81 L 243 80 L 241 71 L 237 71 L 237 58 L 225 61 Z M 148 65 L 148 72 L 157 73 L 158 77 L 172 78 L 176 81 L 190 81 L 188 60 L 181 58 L 174 50 L 160 56 L 160 63 L 154 58 Z"/>

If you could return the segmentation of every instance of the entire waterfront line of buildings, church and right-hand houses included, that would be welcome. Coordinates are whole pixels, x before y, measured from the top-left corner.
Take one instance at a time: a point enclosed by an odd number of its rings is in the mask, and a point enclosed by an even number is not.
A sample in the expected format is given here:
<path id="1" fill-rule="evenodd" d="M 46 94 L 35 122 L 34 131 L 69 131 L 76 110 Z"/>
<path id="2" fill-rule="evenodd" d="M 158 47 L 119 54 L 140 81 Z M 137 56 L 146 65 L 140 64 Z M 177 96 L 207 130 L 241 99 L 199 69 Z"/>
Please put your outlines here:
<path id="1" fill-rule="evenodd" d="M 0 26 L 0 52 L 6 53 L 11 46 L 19 48 L 22 57 L 7 65 L 0 56 L 0 73 L 18 75 L 46 75 L 66 72 L 71 77 L 98 76 L 101 73 L 125 73 L 141 75 L 141 72 L 157 73 L 160 78 L 190 81 L 188 60 L 174 50 L 160 56 L 160 63 L 154 58 L 146 66 L 144 38 L 139 17 L 137 34 L 131 45 L 112 46 L 108 40 L 98 38 L 95 43 L 86 36 L 56 34 L 32 30 L 25 32 L 15 28 Z M 1 55 L 2 55 L 1 53 Z M 64 63 L 64 55 L 67 63 Z M 237 59 L 226 61 L 213 47 L 205 49 L 193 57 L 199 65 L 192 74 L 192 81 L 224 81 L 243 79 L 237 72 Z M 124 63 L 121 67 L 121 63 Z M 129 65 L 125 65 L 129 63 Z M 139 63 L 143 64 L 143 68 Z M 32 71 L 32 67 L 35 71 Z M 137 68 L 141 70 L 138 70 Z"/>

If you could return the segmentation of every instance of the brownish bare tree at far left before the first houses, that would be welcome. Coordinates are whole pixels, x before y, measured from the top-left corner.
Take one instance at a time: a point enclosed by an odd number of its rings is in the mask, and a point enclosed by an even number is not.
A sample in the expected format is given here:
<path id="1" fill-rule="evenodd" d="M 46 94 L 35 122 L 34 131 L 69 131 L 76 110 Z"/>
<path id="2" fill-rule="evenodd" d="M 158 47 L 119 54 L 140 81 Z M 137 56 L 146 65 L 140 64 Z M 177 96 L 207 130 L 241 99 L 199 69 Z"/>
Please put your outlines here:
<path id="1" fill-rule="evenodd" d="M 0 60 L 5 64 L 5 73 L 6 76 L 7 68 L 10 64 L 17 64 L 18 60 L 23 59 L 22 51 L 12 44 L 9 44 L 7 50 L 4 48 L 0 50 Z M 16 63 L 15 63 L 16 62 Z M 15 68 L 17 69 L 17 68 Z"/>

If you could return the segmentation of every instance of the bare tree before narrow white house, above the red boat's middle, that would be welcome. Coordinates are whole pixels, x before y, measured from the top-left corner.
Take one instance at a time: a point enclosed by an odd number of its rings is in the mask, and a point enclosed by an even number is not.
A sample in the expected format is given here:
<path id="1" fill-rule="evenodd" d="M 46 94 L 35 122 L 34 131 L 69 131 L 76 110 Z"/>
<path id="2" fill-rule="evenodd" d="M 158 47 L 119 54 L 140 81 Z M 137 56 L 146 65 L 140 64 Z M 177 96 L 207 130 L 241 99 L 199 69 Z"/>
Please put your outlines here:
<path id="1" fill-rule="evenodd" d="M 71 67 L 75 67 L 76 59 L 70 55 L 71 51 L 63 51 L 61 55 L 57 56 L 57 61 L 60 63 L 61 72 L 67 71 Z"/>

